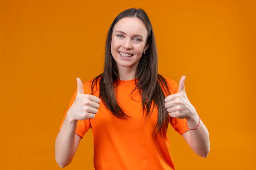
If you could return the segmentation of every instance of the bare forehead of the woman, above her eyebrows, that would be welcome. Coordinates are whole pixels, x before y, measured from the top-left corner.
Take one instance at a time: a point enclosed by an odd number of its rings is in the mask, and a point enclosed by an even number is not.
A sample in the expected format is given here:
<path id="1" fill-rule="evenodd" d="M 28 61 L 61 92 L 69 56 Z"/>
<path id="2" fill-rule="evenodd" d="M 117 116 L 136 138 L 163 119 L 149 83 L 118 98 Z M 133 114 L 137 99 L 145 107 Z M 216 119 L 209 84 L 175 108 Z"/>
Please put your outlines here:
<path id="1" fill-rule="evenodd" d="M 144 22 L 137 17 L 124 17 L 115 24 L 113 33 L 122 31 L 127 34 L 140 34 L 146 37 L 148 31 Z"/>

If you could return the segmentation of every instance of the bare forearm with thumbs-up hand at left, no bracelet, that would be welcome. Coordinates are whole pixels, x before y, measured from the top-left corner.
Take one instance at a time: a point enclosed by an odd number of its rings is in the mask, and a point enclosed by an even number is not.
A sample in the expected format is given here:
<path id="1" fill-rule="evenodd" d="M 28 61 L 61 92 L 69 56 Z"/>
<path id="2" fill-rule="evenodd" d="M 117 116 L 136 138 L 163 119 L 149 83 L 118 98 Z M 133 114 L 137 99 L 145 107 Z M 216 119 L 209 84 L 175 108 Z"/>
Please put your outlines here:
<path id="1" fill-rule="evenodd" d="M 55 159 L 61 168 L 71 163 L 81 141 L 81 137 L 76 135 L 78 120 L 94 118 L 99 109 L 100 99 L 90 94 L 84 94 L 82 81 L 80 78 L 77 78 L 76 81 L 76 99 L 67 111 L 55 141 Z"/>

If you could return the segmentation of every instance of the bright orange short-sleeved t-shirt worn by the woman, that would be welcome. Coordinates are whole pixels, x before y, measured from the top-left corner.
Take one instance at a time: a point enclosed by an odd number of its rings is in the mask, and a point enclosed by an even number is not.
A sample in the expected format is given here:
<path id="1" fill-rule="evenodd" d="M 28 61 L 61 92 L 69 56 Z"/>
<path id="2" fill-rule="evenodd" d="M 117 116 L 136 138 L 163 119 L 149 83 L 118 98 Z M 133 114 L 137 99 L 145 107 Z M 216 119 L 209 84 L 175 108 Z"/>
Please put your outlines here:
<path id="1" fill-rule="evenodd" d="M 177 83 L 168 78 L 166 81 L 171 94 L 177 93 Z M 91 94 L 91 83 L 92 80 L 83 83 L 85 94 Z M 135 80 L 121 81 L 117 88 L 117 102 L 130 118 L 113 116 L 101 102 L 95 118 L 81 120 L 77 124 L 76 134 L 80 137 L 92 129 L 95 170 L 174 170 L 168 150 L 168 137 L 153 135 L 157 123 L 157 107 L 151 117 L 145 120 L 139 91 L 131 95 Z M 99 91 L 94 96 L 99 96 Z M 69 107 L 75 97 L 76 92 Z M 170 118 L 170 123 L 180 134 L 188 131 L 185 119 Z"/>

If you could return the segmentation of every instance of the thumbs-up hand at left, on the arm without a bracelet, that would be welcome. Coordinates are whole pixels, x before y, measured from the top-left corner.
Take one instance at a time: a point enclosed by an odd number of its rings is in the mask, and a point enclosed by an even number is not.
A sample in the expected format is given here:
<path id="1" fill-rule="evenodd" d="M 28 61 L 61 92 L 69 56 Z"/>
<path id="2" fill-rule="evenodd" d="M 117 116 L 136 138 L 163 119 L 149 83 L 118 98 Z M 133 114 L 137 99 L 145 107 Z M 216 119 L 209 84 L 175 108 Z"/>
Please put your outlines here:
<path id="1" fill-rule="evenodd" d="M 72 120 L 85 120 L 94 118 L 99 109 L 100 99 L 90 94 L 84 94 L 83 83 L 80 78 L 77 81 L 77 94 L 73 105 L 67 114 Z"/>

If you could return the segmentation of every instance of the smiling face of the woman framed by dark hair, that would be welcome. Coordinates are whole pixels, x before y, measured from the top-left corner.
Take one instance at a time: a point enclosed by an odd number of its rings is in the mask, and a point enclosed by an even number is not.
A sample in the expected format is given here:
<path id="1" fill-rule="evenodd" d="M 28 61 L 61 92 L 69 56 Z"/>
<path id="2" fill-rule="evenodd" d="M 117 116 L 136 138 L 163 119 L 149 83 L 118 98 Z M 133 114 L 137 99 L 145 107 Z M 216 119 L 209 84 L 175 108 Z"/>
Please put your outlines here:
<path id="1" fill-rule="evenodd" d="M 147 29 L 137 17 L 124 17 L 112 32 L 111 53 L 119 73 L 136 72 L 143 51 L 147 50 Z"/>

